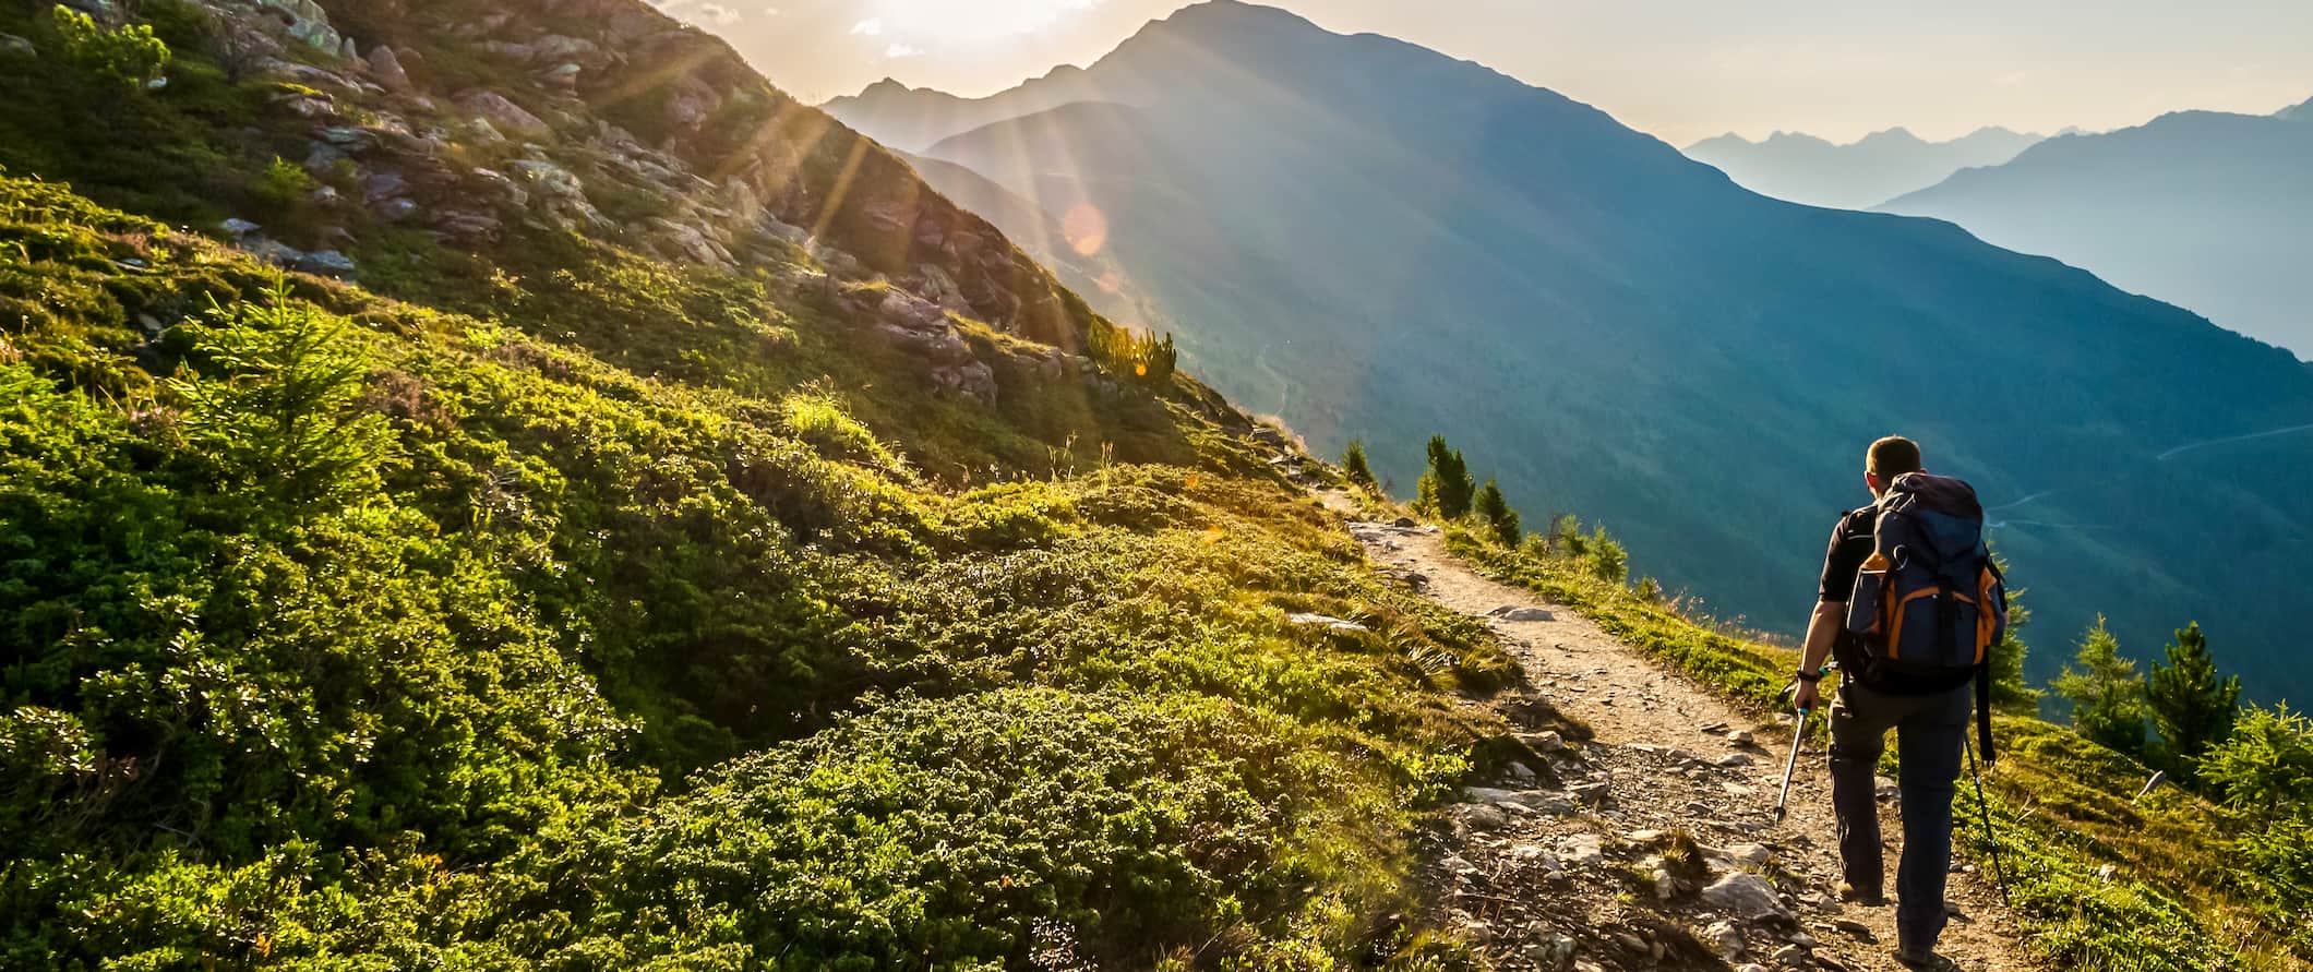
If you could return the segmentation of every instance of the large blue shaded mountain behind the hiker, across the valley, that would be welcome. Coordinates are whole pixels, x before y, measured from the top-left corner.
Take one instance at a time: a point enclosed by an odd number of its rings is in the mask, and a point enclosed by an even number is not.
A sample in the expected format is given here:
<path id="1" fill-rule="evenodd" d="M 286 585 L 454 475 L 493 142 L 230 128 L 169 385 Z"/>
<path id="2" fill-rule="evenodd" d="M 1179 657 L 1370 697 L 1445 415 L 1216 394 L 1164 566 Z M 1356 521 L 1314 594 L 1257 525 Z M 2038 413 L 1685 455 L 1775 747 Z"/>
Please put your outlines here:
<path id="1" fill-rule="evenodd" d="M 1099 208 L 1203 375 L 1316 442 L 1367 437 L 1399 484 L 1450 430 L 1520 507 L 1603 516 L 1675 590 L 1790 632 L 1862 500 L 1855 456 L 1906 430 L 1994 507 L 2038 495 L 2001 528 L 2038 673 L 2103 611 L 2140 655 L 2200 618 L 2260 690 L 2308 683 L 2278 579 L 2313 537 L 2285 486 L 2313 442 L 2158 461 L 2308 421 L 2278 349 L 1950 224 L 1751 194 L 1584 104 L 1272 9 L 1191 7 L 1087 81 L 1147 97 L 930 155 Z"/>

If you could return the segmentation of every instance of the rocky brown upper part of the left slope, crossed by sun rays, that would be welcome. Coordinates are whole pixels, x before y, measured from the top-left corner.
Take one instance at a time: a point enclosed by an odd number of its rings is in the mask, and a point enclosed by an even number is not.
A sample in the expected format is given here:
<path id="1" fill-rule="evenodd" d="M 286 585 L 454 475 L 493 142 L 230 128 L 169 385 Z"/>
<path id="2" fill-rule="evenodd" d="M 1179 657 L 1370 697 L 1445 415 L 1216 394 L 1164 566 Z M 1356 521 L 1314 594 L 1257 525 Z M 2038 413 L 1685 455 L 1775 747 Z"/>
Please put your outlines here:
<path id="1" fill-rule="evenodd" d="M 199 2 L 236 69 L 289 81 L 271 118 L 305 139 L 315 211 L 349 229 L 398 224 L 451 245 L 585 234 L 726 271 L 784 266 L 800 248 L 816 271 L 789 285 L 821 287 L 941 393 L 995 405 L 1015 380 L 1119 389 L 1078 354 L 1089 308 L 995 227 L 641 0 L 479 14 L 439 0 Z M 433 67 L 453 60 L 490 62 L 497 81 L 467 88 Z M 338 250 L 356 243 L 349 229 L 324 227 L 301 250 L 231 227 L 280 266 L 361 273 Z M 1055 347 L 997 347 L 967 319 Z"/>

